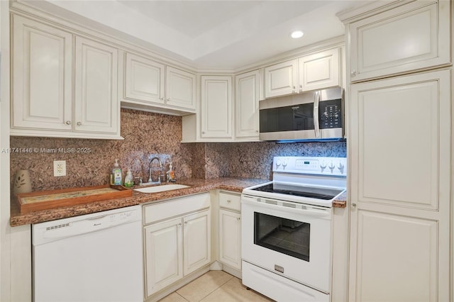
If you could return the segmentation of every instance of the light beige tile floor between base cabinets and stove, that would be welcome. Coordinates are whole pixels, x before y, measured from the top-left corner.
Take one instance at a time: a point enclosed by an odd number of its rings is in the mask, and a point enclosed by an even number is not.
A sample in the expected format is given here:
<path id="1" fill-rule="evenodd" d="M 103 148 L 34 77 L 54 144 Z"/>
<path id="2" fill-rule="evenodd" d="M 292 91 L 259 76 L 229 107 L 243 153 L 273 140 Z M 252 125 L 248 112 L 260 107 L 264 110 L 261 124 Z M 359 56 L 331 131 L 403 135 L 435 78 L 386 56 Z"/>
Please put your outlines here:
<path id="1" fill-rule="evenodd" d="M 241 280 L 223 271 L 209 271 L 181 289 L 170 293 L 160 302 L 270 302 L 252 289 L 247 290 Z"/>

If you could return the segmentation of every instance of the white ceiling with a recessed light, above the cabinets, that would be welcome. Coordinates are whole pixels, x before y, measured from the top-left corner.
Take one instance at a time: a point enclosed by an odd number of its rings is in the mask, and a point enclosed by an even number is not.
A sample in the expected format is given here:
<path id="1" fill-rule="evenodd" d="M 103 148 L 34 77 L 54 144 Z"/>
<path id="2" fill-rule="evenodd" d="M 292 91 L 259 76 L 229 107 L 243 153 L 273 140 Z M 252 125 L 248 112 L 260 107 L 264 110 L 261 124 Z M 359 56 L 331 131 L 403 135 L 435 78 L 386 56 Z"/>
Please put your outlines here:
<path id="1" fill-rule="evenodd" d="M 365 1 L 30 0 L 200 69 L 238 69 L 343 35 L 336 13 Z M 299 39 L 292 30 L 303 30 Z"/>

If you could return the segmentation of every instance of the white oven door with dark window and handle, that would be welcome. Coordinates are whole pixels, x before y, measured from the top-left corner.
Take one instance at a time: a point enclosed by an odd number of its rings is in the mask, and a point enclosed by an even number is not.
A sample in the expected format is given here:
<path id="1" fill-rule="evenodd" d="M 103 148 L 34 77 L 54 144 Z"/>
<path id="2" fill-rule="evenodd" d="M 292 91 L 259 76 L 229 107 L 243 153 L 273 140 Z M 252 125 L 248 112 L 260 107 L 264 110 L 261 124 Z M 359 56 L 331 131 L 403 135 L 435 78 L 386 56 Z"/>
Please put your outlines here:
<path id="1" fill-rule="evenodd" d="M 243 194 L 241 220 L 244 261 L 330 292 L 331 208 Z"/>

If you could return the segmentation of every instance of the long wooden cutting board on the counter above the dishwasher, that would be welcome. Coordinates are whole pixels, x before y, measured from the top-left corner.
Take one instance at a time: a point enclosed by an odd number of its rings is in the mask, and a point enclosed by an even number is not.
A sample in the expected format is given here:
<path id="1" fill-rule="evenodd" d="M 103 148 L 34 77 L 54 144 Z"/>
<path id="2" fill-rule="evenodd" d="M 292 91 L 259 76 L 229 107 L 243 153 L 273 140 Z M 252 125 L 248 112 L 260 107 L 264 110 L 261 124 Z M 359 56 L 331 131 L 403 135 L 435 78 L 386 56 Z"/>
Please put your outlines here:
<path id="1" fill-rule="evenodd" d="M 74 206 L 82 203 L 106 201 L 115 198 L 133 196 L 133 190 L 124 186 L 85 186 L 52 191 L 39 191 L 18 194 L 16 200 L 21 214 L 34 211 L 49 210 L 64 206 Z"/>

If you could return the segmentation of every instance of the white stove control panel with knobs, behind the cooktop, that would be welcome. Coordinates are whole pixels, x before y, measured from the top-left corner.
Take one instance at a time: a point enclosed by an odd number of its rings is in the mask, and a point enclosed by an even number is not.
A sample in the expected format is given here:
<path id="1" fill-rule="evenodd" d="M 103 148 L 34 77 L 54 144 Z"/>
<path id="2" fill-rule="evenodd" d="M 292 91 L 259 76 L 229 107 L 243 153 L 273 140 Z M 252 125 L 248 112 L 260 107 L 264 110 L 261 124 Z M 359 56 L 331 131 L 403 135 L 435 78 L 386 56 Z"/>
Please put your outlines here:
<path id="1" fill-rule="evenodd" d="M 273 158 L 272 172 L 345 177 L 347 175 L 347 158 L 277 156 Z"/>

